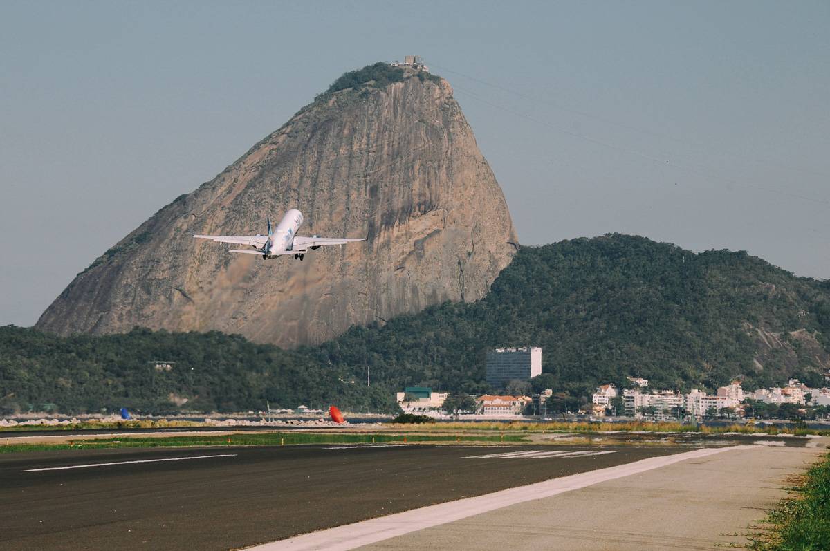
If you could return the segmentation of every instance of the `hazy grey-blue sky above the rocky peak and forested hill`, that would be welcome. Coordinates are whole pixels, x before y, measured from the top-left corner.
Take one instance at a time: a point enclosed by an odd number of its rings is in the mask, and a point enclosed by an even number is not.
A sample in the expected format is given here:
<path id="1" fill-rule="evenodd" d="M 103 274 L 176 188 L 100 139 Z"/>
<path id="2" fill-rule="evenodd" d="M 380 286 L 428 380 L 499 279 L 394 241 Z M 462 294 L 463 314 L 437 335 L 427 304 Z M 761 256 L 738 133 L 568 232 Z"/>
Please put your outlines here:
<path id="1" fill-rule="evenodd" d="M 624 232 L 828 279 L 828 28 L 807 0 L 6 0 L 0 324 L 344 71 L 408 54 L 452 84 L 522 244 Z"/>

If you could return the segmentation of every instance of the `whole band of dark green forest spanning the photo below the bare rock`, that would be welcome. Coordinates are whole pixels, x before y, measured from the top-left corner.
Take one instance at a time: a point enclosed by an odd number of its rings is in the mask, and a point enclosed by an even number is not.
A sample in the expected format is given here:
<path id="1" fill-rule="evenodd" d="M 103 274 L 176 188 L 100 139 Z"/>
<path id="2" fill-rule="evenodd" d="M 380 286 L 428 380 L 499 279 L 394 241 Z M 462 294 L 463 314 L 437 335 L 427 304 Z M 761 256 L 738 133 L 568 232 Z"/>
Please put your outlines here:
<path id="1" fill-rule="evenodd" d="M 584 397 L 627 375 L 652 387 L 745 388 L 830 368 L 830 282 L 795 277 L 745 252 L 684 251 L 611 235 L 524 247 L 476 303 L 450 303 L 317 347 L 288 351 L 240 336 L 153 333 L 61 338 L 0 329 L 0 407 L 234 411 L 343 407 L 389 411 L 404 385 L 483 392 L 484 356 L 541 346 L 537 388 Z M 150 360 L 176 362 L 157 373 Z M 364 385 L 369 368 L 372 387 Z"/>

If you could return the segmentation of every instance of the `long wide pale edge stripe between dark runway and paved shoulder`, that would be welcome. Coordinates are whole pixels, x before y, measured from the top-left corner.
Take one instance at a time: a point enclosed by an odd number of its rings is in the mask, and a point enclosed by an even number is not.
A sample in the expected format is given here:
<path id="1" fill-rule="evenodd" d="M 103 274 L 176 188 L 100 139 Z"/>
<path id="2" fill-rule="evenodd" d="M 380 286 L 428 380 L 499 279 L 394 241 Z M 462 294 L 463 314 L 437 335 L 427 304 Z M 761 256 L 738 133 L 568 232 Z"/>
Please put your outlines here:
<path id="1" fill-rule="evenodd" d="M 390 514 L 378 519 L 369 519 L 354 524 L 346 524 L 337 528 L 330 528 L 302 534 L 290 539 L 262 544 L 251 547 L 251 551 L 310 551 L 311 549 L 327 549 L 330 551 L 346 551 L 361 545 L 374 544 L 384 539 L 394 538 L 417 530 L 432 528 L 439 524 L 447 524 L 460 519 L 466 519 L 476 514 L 501 509 L 525 501 L 540 500 L 553 495 L 562 494 L 570 490 L 579 490 L 585 486 L 598 484 L 607 480 L 636 475 L 651 471 L 662 466 L 671 465 L 687 459 L 712 456 L 729 450 L 751 449 L 754 446 L 730 446 L 722 448 L 708 448 L 704 450 L 686 451 L 672 456 L 649 457 L 625 465 L 607 467 L 597 471 L 583 472 L 579 475 L 563 476 L 545 480 L 536 484 L 519 486 L 501 490 L 492 494 L 466 498 L 464 500 L 447 501 L 438 505 L 429 505 L 420 509 Z"/>

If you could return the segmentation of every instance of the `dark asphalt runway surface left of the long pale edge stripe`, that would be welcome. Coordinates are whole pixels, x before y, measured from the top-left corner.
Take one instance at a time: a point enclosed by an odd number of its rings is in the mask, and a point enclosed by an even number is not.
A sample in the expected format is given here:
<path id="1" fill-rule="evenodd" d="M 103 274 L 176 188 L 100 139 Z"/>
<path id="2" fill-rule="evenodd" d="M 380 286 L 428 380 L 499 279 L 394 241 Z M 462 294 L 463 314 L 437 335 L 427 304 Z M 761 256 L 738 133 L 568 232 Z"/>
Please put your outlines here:
<path id="1" fill-rule="evenodd" d="M 14 453 L 0 456 L 0 549 L 237 549 L 687 450 L 394 445 Z"/>

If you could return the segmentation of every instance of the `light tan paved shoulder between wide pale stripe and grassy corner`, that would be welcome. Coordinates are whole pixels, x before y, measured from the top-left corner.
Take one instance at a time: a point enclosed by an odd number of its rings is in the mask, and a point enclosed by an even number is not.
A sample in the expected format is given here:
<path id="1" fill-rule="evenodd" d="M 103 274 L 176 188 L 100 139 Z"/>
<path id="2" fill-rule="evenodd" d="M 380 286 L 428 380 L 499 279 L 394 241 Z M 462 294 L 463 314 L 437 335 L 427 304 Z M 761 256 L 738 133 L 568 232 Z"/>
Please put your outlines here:
<path id="1" fill-rule="evenodd" d="M 822 446 L 823 448 L 823 446 Z M 786 478 L 824 451 L 740 446 L 511 505 L 361 549 L 713 549 L 784 496 Z"/>

